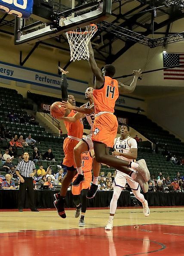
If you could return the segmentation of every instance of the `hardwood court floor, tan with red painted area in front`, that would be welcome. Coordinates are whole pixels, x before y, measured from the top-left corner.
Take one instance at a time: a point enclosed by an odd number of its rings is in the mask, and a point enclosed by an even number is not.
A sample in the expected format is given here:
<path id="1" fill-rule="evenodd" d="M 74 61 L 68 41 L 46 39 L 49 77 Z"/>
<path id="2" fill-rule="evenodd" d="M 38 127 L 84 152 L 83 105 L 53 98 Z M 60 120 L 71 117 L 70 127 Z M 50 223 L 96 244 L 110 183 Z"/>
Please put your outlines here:
<path id="1" fill-rule="evenodd" d="M 85 228 L 74 210 L 0 212 L 0 256 L 175 256 L 184 255 L 184 207 L 117 209 L 113 231 L 105 231 L 109 210 L 88 210 Z"/>

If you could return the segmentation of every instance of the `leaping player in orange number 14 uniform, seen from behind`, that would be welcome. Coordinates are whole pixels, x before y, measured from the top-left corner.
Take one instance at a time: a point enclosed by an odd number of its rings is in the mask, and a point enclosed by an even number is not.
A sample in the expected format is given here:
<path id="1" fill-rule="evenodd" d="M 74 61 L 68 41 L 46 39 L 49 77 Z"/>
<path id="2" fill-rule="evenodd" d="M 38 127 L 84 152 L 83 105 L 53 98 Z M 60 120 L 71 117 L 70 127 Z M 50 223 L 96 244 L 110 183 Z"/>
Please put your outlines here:
<path id="1" fill-rule="evenodd" d="M 139 69 L 133 71 L 133 81 L 130 86 L 124 85 L 113 79 L 115 67 L 113 65 L 105 65 L 103 70 L 98 68 L 91 43 L 89 42 L 89 66 L 95 75 L 95 89 L 93 90 L 93 98 L 95 105 L 95 121 L 93 125 L 92 140 L 97 162 L 103 162 L 130 175 L 143 188 L 144 192 L 148 190 L 147 181 L 150 173 L 144 159 L 138 162 L 128 162 L 109 155 L 110 147 L 113 147 L 113 141 L 117 134 L 118 122 L 116 116 L 113 115 L 114 106 L 119 92 L 131 93 L 134 91 L 138 77 L 141 75 Z M 135 171 L 132 172 L 128 168 Z M 90 190 L 95 193 L 98 186 L 92 184 Z"/>

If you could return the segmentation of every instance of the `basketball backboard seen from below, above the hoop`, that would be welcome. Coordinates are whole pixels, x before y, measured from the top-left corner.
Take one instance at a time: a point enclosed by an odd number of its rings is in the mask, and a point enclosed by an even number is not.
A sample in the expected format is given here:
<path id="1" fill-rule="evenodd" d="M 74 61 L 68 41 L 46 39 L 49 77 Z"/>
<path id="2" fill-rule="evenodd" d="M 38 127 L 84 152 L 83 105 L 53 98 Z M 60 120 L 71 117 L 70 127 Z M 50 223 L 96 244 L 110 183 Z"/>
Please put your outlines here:
<path id="1" fill-rule="evenodd" d="M 111 0 L 34 0 L 28 19 L 16 17 L 15 44 L 34 43 L 104 20 Z"/>

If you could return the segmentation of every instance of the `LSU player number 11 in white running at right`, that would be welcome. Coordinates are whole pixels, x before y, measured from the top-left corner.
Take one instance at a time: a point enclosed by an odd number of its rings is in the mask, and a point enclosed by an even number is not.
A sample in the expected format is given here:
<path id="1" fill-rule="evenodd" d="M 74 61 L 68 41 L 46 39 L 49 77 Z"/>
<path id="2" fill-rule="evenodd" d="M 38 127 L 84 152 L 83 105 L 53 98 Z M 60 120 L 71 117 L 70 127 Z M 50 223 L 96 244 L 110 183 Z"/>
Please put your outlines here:
<path id="1" fill-rule="evenodd" d="M 137 158 L 137 142 L 135 139 L 129 136 L 128 125 L 122 125 L 120 133 L 121 137 L 117 137 L 114 140 L 115 151 L 113 152 L 113 156 L 133 162 L 134 159 Z M 113 182 L 113 197 L 110 201 L 110 216 L 107 225 L 105 226 L 105 230 L 113 229 L 113 216 L 117 209 L 117 200 L 120 197 L 121 191 L 126 186 L 126 183 L 129 184 L 135 197 L 142 203 L 144 216 L 147 217 L 150 214 L 147 200 L 145 200 L 144 195 L 141 194 L 139 184 L 129 175 L 117 170 L 117 175 Z"/>

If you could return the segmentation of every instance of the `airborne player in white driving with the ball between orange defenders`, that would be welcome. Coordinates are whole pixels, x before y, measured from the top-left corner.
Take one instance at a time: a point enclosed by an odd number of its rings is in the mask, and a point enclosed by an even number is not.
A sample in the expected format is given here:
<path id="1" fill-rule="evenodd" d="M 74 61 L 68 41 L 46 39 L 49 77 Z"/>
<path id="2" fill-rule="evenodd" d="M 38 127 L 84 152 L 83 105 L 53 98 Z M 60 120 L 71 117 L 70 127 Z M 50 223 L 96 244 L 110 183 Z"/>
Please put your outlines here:
<path id="1" fill-rule="evenodd" d="M 81 165 L 81 154 L 86 153 L 89 150 L 93 150 L 93 142 L 92 142 L 92 128 L 93 128 L 93 122 L 95 119 L 95 113 L 94 113 L 94 100 L 93 100 L 93 87 L 88 87 L 85 91 L 86 100 L 88 102 L 84 104 L 81 107 L 73 106 L 68 102 L 62 102 L 61 106 L 63 106 L 65 109 L 73 109 L 77 113 L 73 117 L 61 117 L 60 119 L 63 119 L 67 122 L 75 122 L 80 118 L 86 117 L 89 125 L 91 126 L 91 130 L 89 132 L 89 135 L 84 137 L 80 142 L 77 144 L 77 146 L 74 148 L 74 160 L 75 164 L 77 166 L 77 178 L 72 183 L 73 186 L 79 186 L 81 182 L 84 181 L 84 175 L 82 171 L 82 165 Z M 98 189 L 98 176 L 100 172 L 100 163 L 96 162 L 95 158 L 93 159 L 93 182 L 90 190 L 88 191 L 86 197 L 87 198 L 93 198 L 95 197 L 96 191 Z"/>

